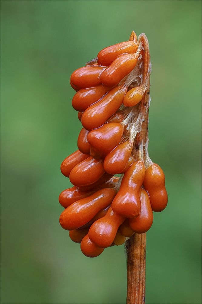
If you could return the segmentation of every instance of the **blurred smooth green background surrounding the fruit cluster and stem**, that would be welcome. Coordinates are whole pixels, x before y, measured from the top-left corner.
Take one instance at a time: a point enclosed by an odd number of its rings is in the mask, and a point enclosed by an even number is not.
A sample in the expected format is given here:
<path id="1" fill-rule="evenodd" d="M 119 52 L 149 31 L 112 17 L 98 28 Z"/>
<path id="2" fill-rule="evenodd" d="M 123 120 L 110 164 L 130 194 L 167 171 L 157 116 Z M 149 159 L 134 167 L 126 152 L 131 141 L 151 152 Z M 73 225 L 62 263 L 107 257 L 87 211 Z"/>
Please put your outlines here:
<path id="1" fill-rule="evenodd" d="M 201 2 L 1 1 L 1 303 L 125 303 L 124 247 L 84 257 L 63 230 L 77 149 L 71 73 L 145 32 L 149 152 L 167 208 L 147 233 L 147 303 L 201 303 Z"/>

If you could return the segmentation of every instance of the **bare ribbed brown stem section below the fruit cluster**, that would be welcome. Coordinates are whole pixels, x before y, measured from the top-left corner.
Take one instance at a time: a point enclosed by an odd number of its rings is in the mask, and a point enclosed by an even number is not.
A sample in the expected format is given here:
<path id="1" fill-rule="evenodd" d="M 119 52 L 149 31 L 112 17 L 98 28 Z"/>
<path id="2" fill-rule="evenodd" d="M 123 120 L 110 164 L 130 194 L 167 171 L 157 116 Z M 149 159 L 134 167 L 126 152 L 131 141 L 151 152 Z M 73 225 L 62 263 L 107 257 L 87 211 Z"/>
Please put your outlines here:
<path id="1" fill-rule="evenodd" d="M 145 303 L 146 233 L 127 241 L 127 304 Z"/>

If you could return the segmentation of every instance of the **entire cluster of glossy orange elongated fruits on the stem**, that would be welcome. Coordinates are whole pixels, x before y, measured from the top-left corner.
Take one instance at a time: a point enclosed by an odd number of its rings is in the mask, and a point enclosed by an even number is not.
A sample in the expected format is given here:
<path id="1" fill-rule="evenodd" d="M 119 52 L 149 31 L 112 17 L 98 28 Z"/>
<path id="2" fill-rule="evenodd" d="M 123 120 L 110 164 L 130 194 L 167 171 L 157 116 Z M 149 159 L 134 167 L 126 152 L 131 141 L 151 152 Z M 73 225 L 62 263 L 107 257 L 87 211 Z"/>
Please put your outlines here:
<path id="1" fill-rule="evenodd" d="M 146 36 L 137 40 L 132 32 L 129 41 L 104 48 L 71 75 L 72 106 L 83 128 L 79 150 L 61 164 L 74 186 L 59 196 L 65 208 L 60 224 L 88 257 L 146 232 L 152 211 L 167 205 L 164 173 L 148 156 L 147 138 L 140 139 L 149 107 L 146 46 Z"/>

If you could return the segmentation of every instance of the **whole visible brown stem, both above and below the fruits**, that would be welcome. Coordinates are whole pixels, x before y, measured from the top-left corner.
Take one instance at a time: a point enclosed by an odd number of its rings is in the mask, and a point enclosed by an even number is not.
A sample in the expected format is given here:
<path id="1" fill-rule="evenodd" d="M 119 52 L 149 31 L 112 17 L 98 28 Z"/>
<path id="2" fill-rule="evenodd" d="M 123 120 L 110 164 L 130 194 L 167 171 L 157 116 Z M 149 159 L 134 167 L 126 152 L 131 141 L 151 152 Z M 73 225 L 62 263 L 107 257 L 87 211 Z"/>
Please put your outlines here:
<path id="1" fill-rule="evenodd" d="M 145 34 L 139 39 L 143 41 L 143 81 L 147 79 L 147 89 L 140 102 L 139 113 L 144 119 L 141 131 L 134 142 L 134 156 L 138 159 L 138 150 L 141 144 L 144 146 L 148 139 L 148 113 L 150 102 L 150 54 L 148 40 Z M 145 153 L 144 153 L 145 161 Z M 134 235 L 127 241 L 127 304 L 145 303 L 145 265 L 146 265 L 146 233 Z"/>

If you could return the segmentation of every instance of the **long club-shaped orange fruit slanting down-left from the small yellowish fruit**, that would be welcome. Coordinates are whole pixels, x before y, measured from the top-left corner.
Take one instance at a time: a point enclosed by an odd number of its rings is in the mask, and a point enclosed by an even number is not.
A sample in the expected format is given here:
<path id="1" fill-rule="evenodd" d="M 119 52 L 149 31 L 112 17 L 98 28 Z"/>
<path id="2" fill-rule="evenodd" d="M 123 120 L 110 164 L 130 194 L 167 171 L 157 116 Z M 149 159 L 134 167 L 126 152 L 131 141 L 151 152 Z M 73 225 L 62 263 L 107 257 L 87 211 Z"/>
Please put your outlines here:
<path id="1" fill-rule="evenodd" d="M 81 123 L 86 130 L 93 130 L 104 125 L 121 106 L 127 87 L 119 86 L 108 92 L 99 102 L 88 107 L 81 118 Z"/>

